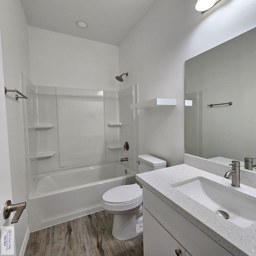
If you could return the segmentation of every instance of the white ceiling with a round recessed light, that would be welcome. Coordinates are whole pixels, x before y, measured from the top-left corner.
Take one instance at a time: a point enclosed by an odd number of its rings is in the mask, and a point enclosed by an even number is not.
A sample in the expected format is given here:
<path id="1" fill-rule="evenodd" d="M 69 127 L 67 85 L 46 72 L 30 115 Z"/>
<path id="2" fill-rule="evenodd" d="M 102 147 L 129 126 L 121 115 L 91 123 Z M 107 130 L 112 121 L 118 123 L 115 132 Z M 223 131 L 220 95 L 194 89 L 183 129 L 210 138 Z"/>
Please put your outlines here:
<path id="1" fill-rule="evenodd" d="M 119 46 L 155 0 L 20 0 L 28 25 Z M 78 28 L 82 20 L 87 28 Z"/>

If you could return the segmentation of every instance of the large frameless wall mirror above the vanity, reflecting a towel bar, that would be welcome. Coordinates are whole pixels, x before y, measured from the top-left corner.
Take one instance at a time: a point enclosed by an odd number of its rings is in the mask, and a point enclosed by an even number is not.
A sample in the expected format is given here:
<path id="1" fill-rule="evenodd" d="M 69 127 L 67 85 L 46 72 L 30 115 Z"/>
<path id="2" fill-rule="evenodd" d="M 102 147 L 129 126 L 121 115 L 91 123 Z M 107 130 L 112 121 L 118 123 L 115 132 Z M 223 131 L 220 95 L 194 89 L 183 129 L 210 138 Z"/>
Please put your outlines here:
<path id="1" fill-rule="evenodd" d="M 185 62 L 185 153 L 256 171 L 255 42 L 256 28 Z"/>

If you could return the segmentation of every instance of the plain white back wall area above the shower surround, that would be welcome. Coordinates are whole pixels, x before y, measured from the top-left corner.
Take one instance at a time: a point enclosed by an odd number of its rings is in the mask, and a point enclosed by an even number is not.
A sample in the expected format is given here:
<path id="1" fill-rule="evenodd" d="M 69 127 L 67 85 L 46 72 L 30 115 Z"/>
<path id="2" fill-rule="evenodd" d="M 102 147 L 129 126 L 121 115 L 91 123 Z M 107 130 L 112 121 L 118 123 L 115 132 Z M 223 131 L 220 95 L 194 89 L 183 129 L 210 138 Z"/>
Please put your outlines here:
<path id="1" fill-rule="evenodd" d="M 33 84 L 118 91 L 118 46 L 29 26 Z"/>

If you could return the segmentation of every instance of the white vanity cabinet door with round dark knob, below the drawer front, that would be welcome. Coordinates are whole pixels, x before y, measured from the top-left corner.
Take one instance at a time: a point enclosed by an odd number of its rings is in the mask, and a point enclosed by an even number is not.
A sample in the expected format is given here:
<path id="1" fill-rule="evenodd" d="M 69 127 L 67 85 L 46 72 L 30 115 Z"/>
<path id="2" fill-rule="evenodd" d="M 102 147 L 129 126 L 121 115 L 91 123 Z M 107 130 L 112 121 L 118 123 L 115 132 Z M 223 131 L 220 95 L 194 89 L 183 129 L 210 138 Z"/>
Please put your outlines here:
<path id="1" fill-rule="evenodd" d="M 145 208 L 143 229 L 144 256 L 185 256 L 182 245 Z"/>

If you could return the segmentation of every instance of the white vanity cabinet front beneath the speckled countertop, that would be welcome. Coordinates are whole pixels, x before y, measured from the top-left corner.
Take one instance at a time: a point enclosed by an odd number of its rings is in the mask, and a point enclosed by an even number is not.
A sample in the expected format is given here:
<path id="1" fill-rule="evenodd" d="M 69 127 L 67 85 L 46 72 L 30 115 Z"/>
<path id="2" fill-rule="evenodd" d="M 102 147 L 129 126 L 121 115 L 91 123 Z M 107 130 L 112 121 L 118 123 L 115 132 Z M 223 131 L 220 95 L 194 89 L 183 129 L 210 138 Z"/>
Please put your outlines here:
<path id="1" fill-rule="evenodd" d="M 145 187 L 143 207 L 144 256 L 232 256 Z"/>

